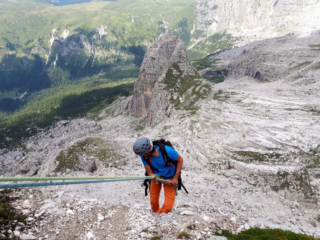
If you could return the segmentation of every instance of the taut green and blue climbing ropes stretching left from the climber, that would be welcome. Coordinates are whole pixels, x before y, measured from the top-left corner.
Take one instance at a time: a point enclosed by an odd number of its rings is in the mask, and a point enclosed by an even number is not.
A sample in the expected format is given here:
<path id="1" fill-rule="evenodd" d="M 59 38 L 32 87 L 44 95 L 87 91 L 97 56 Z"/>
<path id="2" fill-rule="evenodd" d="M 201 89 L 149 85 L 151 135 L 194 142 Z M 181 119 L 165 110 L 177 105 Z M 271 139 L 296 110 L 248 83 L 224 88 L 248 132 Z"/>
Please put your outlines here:
<path id="1" fill-rule="evenodd" d="M 86 183 L 100 183 L 100 182 L 116 182 L 116 181 L 132 181 L 154 179 L 154 176 L 129 176 L 129 177 L 28 177 L 28 178 L 5 178 L 0 177 L 0 181 L 40 181 L 51 180 L 50 182 L 22 182 L 22 183 L 6 183 L 0 184 L 0 188 L 26 188 L 26 187 L 41 187 L 41 186 L 56 186 L 69 184 L 86 184 Z M 81 180 L 80 180 L 81 179 Z M 52 180 L 62 180 L 54 181 Z M 74 181 L 65 181 L 74 180 Z"/>

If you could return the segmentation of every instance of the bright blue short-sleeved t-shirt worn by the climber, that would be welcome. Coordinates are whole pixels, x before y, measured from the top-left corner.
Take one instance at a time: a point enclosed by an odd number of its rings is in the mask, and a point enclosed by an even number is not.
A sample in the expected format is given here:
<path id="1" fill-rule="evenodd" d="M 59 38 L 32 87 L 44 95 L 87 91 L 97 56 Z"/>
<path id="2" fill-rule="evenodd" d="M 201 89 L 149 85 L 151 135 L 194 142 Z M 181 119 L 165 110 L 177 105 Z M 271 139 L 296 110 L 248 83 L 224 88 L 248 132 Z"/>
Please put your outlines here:
<path id="1" fill-rule="evenodd" d="M 155 146 L 158 149 L 159 152 L 159 156 L 154 157 L 151 156 L 151 166 L 152 168 L 155 168 L 156 170 L 152 170 L 153 173 L 161 175 L 163 177 L 172 177 L 175 173 L 176 173 L 176 167 L 175 165 L 173 165 L 172 167 L 170 166 L 166 166 L 165 165 L 165 160 L 161 155 L 161 152 L 159 150 L 158 146 Z M 169 146 L 164 146 L 165 150 L 167 151 L 168 157 L 170 157 L 173 161 L 177 160 L 178 158 L 178 152 L 176 150 L 174 150 L 174 148 L 169 147 Z M 141 160 L 143 162 L 144 165 L 149 165 L 143 158 L 143 156 L 141 156 Z"/>

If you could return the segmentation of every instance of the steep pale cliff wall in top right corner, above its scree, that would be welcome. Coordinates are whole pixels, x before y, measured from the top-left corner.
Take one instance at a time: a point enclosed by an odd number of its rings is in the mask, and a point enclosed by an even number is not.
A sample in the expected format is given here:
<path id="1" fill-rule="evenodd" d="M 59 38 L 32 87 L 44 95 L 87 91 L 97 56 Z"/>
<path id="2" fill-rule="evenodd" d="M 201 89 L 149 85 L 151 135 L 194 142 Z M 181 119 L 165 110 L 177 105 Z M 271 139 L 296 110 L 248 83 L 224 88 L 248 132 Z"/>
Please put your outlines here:
<path id="1" fill-rule="evenodd" d="M 207 36 L 225 29 L 262 39 L 292 32 L 306 36 L 319 28 L 319 11 L 317 0 L 201 1 L 195 29 L 205 31 Z"/>

